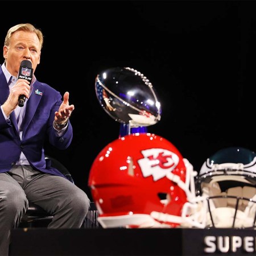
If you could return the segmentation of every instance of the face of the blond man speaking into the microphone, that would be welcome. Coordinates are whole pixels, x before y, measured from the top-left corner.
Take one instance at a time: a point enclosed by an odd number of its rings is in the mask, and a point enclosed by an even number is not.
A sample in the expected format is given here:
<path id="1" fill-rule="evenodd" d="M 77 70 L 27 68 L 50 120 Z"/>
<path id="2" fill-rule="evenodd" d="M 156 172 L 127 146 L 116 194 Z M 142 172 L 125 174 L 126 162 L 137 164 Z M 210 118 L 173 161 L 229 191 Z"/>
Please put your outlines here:
<path id="1" fill-rule="evenodd" d="M 22 60 L 31 61 L 35 72 L 40 63 L 40 55 L 40 42 L 34 32 L 16 31 L 11 36 L 10 45 L 3 47 L 6 68 L 13 76 L 18 76 Z"/>

